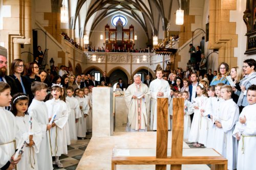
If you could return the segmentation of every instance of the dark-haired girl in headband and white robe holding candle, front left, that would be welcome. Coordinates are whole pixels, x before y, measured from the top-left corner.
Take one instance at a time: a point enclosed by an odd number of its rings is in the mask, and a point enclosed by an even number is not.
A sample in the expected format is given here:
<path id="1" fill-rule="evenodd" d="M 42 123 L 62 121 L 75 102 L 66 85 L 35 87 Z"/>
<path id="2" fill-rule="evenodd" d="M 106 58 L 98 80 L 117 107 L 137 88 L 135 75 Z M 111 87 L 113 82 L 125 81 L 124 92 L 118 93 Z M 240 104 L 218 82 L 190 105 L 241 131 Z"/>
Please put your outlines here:
<path id="1" fill-rule="evenodd" d="M 39 152 L 42 133 L 40 126 L 33 122 L 27 113 L 29 98 L 24 93 L 14 94 L 11 111 L 15 116 L 19 133 L 15 136 L 18 145 L 26 144 L 23 148 L 22 159 L 18 162 L 18 169 L 38 169 L 36 153 Z"/>

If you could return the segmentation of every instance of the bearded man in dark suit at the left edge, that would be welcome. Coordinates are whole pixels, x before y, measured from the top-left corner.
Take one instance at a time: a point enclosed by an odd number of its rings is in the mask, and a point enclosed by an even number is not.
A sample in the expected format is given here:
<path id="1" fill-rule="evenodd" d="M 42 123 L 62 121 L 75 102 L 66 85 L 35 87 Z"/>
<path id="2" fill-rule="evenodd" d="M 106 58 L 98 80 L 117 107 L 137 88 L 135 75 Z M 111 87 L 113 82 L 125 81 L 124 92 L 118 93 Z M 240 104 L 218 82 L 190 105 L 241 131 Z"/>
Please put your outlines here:
<path id="1" fill-rule="evenodd" d="M 11 95 L 17 93 L 17 86 L 13 78 L 6 76 L 7 71 L 7 50 L 0 46 L 0 82 L 5 82 L 11 87 Z"/>

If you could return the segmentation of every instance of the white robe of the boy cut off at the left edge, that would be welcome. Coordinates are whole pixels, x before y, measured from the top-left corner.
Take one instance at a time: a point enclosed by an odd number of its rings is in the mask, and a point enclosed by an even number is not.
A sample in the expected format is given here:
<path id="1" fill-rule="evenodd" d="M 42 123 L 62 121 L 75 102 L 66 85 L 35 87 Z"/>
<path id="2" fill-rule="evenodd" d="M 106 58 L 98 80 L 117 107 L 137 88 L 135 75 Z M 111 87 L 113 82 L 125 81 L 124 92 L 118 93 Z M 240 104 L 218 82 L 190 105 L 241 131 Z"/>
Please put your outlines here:
<path id="1" fill-rule="evenodd" d="M 18 127 L 14 115 L 0 107 L 0 168 L 11 160 L 15 153 L 15 135 Z"/>

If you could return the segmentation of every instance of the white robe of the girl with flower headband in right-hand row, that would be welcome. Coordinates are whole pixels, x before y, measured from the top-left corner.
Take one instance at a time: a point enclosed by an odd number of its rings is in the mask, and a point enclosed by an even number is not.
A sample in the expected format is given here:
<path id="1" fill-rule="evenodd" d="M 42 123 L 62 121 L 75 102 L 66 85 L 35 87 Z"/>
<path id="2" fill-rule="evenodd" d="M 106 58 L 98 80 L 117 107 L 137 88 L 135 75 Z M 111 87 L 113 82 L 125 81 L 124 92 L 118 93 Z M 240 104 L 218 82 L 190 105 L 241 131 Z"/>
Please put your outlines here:
<path id="1" fill-rule="evenodd" d="M 199 135 L 200 135 L 200 128 L 201 128 L 201 109 L 203 109 L 205 101 L 207 97 L 206 96 L 197 96 L 197 98 L 193 99 L 192 105 L 193 107 L 197 106 L 199 109 L 194 109 L 194 117 L 193 121 L 191 123 L 190 133 L 188 136 L 189 142 L 198 142 Z"/>

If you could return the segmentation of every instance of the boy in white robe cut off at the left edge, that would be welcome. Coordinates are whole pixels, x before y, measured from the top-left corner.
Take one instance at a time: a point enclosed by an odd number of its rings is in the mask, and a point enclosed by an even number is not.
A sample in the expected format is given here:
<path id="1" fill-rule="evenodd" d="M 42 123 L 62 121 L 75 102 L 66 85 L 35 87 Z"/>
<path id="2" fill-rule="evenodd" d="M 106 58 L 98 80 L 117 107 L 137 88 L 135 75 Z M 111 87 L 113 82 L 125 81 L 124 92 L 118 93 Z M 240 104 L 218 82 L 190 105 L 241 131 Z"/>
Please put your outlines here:
<path id="1" fill-rule="evenodd" d="M 16 149 L 15 136 L 18 132 L 14 115 L 5 109 L 11 104 L 11 89 L 5 82 L 0 82 L 0 169 L 14 169 L 19 162 L 13 159 Z"/>

